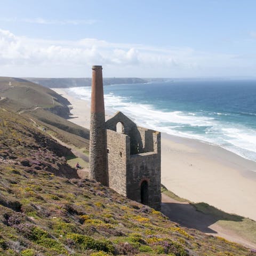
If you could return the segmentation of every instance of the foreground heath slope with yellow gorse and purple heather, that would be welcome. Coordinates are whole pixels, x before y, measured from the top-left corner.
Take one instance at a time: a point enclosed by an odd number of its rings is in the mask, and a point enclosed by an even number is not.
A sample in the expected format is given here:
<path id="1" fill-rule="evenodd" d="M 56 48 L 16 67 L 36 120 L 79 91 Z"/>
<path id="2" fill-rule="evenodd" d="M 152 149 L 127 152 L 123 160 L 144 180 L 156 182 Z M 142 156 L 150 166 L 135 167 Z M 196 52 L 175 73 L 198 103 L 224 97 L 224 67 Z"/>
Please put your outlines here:
<path id="1" fill-rule="evenodd" d="M 30 117 L 0 117 L 0 255 L 256 255 L 77 179 L 70 150 Z"/>

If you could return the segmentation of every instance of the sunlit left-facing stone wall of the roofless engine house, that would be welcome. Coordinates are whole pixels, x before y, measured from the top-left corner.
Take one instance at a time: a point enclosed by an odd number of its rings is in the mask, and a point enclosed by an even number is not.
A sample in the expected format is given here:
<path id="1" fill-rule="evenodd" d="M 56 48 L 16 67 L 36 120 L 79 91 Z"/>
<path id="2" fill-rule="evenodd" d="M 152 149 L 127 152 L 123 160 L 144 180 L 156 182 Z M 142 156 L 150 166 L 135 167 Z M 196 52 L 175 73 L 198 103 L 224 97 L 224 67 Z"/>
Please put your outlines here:
<path id="1" fill-rule="evenodd" d="M 109 187 L 117 193 L 126 194 L 126 163 L 130 157 L 130 138 L 115 131 L 107 130 Z"/>

